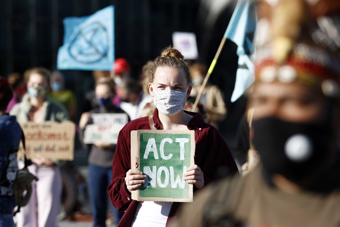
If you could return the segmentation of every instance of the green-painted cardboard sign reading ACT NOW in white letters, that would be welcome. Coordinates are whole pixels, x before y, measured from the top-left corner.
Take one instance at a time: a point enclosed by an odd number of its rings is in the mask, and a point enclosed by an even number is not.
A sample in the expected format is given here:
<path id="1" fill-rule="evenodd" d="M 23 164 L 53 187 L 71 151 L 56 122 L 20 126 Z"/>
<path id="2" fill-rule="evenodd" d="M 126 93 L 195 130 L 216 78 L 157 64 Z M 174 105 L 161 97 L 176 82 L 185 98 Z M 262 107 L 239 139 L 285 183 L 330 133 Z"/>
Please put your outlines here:
<path id="1" fill-rule="evenodd" d="M 193 130 L 131 131 L 131 169 L 147 175 L 132 191 L 137 201 L 192 202 L 192 184 L 183 173 L 194 165 Z"/>

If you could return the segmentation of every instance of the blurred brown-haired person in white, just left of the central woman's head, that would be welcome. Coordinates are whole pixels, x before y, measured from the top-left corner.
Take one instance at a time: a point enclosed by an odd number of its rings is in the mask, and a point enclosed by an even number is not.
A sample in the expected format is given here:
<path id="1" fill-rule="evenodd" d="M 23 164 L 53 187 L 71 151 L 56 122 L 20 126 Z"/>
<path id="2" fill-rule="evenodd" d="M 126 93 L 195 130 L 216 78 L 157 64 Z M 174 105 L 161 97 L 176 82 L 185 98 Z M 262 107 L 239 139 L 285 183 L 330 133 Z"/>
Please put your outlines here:
<path id="1" fill-rule="evenodd" d="M 142 67 L 142 72 L 138 84 L 143 88 L 144 94 L 142 96 L 142 100 L 139 103 L 136 118 L 150 116 L 155 110 L 153 97 L 150 95 L 149 92 L 149 83 L 151 81 L 150 68 L 153 63 L 154 61 L 148 61 L 148 63 Z"/>

